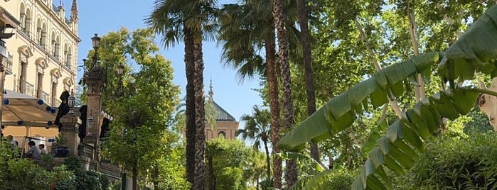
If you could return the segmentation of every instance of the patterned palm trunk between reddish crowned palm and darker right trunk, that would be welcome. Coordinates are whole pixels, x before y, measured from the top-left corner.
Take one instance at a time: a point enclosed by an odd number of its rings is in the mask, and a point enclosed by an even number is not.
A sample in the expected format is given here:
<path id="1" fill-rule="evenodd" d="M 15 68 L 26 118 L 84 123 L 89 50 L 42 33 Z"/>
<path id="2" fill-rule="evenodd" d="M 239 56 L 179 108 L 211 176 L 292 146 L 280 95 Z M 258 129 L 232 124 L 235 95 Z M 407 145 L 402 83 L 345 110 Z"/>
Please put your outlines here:
<path id="1" fill-rule="evenodd" d="M 288 61 L 287 30 L 284 26 L 283 14 L 282 2 L 280 0 L 273 0 L 273 16 L 278 37 L 279 68 L 283 86 L 283 124 L 284 128 L 289 130 L 294 124 L 294 105 L 292 103 L 292 77 L 290 76 L 290 64 Z M 285 172 L 285 180 L 287 181 L 287 186 L 293 186 L 297 180 L 296 161 L 289 160 L 286 165 L 287 172 Z"/>

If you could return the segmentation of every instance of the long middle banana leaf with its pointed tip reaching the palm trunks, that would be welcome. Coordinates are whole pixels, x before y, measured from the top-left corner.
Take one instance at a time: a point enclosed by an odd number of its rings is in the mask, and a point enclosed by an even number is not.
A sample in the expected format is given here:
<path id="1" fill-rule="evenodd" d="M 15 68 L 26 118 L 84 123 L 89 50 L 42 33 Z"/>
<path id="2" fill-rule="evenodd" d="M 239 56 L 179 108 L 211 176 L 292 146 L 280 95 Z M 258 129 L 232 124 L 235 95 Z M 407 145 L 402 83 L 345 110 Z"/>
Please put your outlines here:
<path id="1" fill-rule="evenodd" d="M 403 94 L 404 79 L 417 74 L 419 70 L 428 69 L 430 65 L 439 61 L 438 52 L 430 52 L 412 57 L 405 62 L 391 65 L 380 72 L 373 74 L 348 91 L 336 96 L 319 108 L 314 114 L 306 118 L 300 125 L 279 141 L 278 147 L 286 150 L 301 150 L 305 143 L 311 140 L 317 143 L 331 134 L 347 128 L 354 121 L 358 106 L 368 105 L 368 98 L 374 107 L 388 102 L 388 91 L 395 96 Z"/>

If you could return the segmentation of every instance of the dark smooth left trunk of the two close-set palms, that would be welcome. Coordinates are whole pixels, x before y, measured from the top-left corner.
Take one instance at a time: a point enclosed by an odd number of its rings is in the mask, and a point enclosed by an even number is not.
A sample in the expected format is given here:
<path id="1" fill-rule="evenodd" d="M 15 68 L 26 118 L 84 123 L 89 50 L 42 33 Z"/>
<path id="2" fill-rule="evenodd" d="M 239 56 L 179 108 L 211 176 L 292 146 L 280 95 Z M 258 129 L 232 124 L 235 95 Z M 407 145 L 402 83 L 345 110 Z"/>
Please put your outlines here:
<path id="1" fill-rule="evenodd" d="M 188 28 L 185 33 L 185 69 L 186 69 L 186 179 L 193 184 L 195 177 L 195 56 L 193 55 L 193 33 Z"/>

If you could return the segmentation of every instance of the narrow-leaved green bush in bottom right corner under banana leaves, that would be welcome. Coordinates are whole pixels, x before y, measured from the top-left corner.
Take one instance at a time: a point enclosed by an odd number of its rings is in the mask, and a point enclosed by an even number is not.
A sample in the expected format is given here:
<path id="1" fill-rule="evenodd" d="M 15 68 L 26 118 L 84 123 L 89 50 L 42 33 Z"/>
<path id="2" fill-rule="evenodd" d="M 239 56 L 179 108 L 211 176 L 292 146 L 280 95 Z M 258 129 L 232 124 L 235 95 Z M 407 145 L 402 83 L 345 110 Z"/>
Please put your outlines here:
<path id="1" fill-rule="evenodd" d="M 397 177 L 395 189 L 496 189 L 497 134 L 441 137 L 427 145 L 421 159 Z"/>

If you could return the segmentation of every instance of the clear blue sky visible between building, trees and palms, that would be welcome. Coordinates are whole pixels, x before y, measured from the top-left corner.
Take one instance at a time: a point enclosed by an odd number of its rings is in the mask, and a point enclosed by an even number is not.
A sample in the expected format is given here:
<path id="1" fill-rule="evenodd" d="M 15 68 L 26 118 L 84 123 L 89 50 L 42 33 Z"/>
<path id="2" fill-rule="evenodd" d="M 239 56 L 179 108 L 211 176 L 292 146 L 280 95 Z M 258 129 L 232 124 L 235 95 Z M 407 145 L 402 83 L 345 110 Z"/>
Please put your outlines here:
<path id="1" fill-rule="evenodd" d="M 70 13 L 72 0 L 64 0 L 66 12 Z M 227 3 L 228 0 L 220 1 Z M 59 4 L 54 0 L 55 4 Z M 119 30 L 126 27 L 129 30 L 146 27 L 143 20 L 153 9 L 154 0 L 78 0 L 79 10 L 79 36 L 81 43 L 78 51 L 78 64 L 92 48 L 90 38 L 94 33 L 100 36 L 110 31 Z M 183 45 L 164 49 L 160 39 L 156 40 L 161 48 L 161 55 L 172 61 L 174 68 L 173 82 L 181 87 L 181 97 L 185 96 L 186 75 L 185 64 L 183 62 Z M 215 42 L 204 43 L 203 60 L 205 94 L 209 90 L 209 80 L 212 78 L 214 101 L 223 107 L 233 117 L 240 120 L 245 113 L 252 113 L 253 105 L 262 105 L 262 99 L 257 91 L 259 89 L 258 79 L 245 80 L 243 84 L 235 78 L 235 70 L 224 68 L 220 61 L 221 50 L 216 47 Z M 78 74 L 78 79 L 81 73 Z M 242 128 L 243 123 L 240 123 Z"/>

